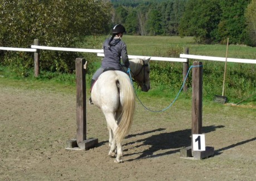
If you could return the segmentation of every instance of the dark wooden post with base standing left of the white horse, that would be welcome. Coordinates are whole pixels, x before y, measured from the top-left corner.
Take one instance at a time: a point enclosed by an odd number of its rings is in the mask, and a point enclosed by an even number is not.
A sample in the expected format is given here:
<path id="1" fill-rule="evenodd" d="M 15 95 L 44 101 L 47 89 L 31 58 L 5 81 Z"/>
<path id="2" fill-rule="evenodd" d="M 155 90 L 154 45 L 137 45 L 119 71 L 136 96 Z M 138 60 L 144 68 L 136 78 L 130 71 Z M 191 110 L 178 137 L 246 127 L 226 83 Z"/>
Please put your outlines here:
<path id="1" fill-rule="evenodd" d="M 97 138 L 86 139 L 86 61 L 76 58 L 76 138 L 68 140 L 66 149 L 88 150 L 98 144 Z"/>

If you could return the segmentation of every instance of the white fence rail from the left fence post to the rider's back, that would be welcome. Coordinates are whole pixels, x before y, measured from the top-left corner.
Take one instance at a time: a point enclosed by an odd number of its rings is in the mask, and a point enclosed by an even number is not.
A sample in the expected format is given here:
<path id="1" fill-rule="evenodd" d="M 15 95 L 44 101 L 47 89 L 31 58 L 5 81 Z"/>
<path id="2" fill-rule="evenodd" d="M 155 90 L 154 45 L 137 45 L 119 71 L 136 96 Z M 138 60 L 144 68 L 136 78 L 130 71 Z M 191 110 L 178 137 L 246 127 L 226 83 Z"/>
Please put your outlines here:
<path id="1" fill-rule="evenodd" d="M 66 52 L 87 52 L 87 53 L 103 53 L 103 49 L 84 49 L 84 48 L 61 48 L 61 47 L 47 47 L 47 46 L 35 46 L 31 48 L 47 49 L 51 51 L 66 51 Z"/>

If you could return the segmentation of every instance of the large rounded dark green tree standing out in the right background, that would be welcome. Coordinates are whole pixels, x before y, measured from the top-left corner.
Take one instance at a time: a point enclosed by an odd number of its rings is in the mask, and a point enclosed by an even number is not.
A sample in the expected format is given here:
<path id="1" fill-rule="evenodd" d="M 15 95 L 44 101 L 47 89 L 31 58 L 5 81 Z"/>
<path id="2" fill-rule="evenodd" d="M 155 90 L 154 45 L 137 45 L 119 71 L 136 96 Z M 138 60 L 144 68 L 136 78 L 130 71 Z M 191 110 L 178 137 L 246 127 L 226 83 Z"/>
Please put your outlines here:
<path id="1" fill-rule="evenodd" d="M 214 41 L 221 11 L 220 0 L 189 0 L 179 25 L 180 36 L 195 36 L 196 41 Z"/>

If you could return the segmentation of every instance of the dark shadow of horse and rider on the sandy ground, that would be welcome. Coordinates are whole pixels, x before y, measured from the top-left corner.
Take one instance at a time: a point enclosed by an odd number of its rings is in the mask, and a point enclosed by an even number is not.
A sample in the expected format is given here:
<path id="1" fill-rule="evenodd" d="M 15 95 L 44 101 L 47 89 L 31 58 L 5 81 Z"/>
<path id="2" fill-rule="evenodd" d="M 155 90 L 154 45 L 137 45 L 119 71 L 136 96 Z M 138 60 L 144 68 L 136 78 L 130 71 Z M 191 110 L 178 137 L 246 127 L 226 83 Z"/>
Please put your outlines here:
<path id="1" fill-rule="evenodd" d="M 223 127 L 224 125 L 218 125 L 218 126 L 210 125 L 207 127 L 203 127 L 202 132 L 203 133 L 213 132 L 214 130 L 216 130 L 216 128 L 223 128 Z M 162 130 L 165 130 L 165 129 L 160 128 L 160 129 L 152 130 L 149 132 L 128 135 L 126 138 L 136 137 L 138 135 L 148 134 L 148 133 L 157 132 L 157 131 L 161 132 Z M 143 145 L 147 145 L 149 146 L 149 149 L 143 150 L 142 152 L 126 154 L 126 156 L 139 154 L 137 158 L 130 159 L 127 161 L 132 161 L 132 160 L 141 159 L 141 158 L 149 158 L 149 157 L 150 158 L 160 157 L 162 155 L 173 154 L 173 153 L 180 152 L 181 148 L 188 147 L 191 145 L 191 129 L 178 130 L 176 132 L 151 135 L 150 137 L 136 140 L 136 142 L 126 143 L 124 144 L 124 146 L 135 144 L 135 143 L 136 144 L 141 143 L 140 145 L 135 146 L 136 148 L 141 147 Z M 168 149 L 171 149 L 171 150 L 168 150 Z M 159 150 L 168 150 L 168 151 L 164 153 L 155 154 L 155 152 Z"/>

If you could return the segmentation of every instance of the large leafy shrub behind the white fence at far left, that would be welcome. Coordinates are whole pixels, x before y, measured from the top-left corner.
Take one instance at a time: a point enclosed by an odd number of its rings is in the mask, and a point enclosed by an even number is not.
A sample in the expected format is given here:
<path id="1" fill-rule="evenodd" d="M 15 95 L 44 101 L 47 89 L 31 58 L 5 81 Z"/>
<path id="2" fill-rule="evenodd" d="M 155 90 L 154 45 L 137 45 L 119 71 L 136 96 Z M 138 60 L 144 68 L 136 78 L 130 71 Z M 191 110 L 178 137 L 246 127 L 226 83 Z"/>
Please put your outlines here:
<path id="1" fill-rule="evenodd" d="M 34 39 L 42 46 L 73 47 L 81 37 L 109 31 L 109 1 L 0 0 L 0 46 L 29 48 Z M 32 53 L 10 53 L 1 63 L 31 68 Z M 9 57 L 9 58 L 7 58 Z M 41 69 L 72 72 L 77 53 L 41 51 Z"/>

